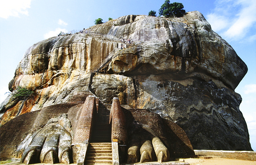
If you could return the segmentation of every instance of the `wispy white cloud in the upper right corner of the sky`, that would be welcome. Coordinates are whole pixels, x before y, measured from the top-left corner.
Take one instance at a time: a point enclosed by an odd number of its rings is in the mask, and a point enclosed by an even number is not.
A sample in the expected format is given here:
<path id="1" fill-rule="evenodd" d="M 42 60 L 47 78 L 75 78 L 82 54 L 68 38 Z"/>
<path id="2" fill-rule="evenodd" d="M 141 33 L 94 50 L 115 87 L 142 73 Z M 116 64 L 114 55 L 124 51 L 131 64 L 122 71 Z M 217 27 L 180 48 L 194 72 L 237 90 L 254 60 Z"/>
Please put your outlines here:
<path id="1" fill-rule="evenodd" d="M 221 36 L 240 40 L 251 35 L 248 31 L 256 22 L 255 0 L 217 0 L 214 11 L 206 18 Z"/>

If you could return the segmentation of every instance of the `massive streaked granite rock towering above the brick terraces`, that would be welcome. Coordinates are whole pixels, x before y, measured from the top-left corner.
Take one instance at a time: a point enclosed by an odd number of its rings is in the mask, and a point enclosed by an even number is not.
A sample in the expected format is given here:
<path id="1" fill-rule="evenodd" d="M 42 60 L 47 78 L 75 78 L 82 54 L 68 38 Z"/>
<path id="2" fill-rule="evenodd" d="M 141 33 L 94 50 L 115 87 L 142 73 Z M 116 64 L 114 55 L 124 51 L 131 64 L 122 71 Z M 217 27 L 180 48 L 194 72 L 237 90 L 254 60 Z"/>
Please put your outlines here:
<path id="1" fill-rule="evenodd" d="M 22 86 L 36 94 L 27 108 L 11 94 L 1 104 L 1 124 L 12 118 L 10 109 L 15 117 L 67 103 L 74 92 L 88 89 L 90 72 L 114 55 L 92 79 L 91 90 L 104 103 L 119 97 L 121 104 L 173 120 L 194 149 L 252 150 L 242 99 L 234 92 L 247 66 L 201 13 L 128 15 L 88 30 L 26 51 L 9 89 Z M 120 50 L 121 38 L 132 38 L 134 45 Z"/>

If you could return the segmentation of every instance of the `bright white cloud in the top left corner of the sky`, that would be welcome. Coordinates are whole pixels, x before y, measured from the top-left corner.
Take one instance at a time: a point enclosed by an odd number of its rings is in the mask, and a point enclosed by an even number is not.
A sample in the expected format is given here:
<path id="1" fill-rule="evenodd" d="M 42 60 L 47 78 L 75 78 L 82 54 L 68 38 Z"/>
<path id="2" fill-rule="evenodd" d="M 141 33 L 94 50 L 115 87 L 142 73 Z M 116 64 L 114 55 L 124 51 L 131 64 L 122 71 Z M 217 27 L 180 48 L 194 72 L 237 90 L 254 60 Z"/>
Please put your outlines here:
<path id="1" fill-rule="evenodd" d="M 1 1 L 0 17 L 7 19 L 10 16 L 19 17 L 20 14 L 28 15 L 31 0 L 7 0 Z"/>

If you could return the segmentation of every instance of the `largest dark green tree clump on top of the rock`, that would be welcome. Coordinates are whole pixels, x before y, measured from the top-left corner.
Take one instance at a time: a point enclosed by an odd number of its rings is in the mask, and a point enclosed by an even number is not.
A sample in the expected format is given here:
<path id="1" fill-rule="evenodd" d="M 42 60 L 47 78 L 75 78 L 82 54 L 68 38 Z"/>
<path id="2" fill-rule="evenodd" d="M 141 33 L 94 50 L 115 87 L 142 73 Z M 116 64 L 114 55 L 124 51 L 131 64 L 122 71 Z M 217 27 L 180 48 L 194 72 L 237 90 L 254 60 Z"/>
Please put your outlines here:
<path id="1" fill-rule="evenodd" d="M 163 15 L 165 17 L 181 17 L 184 13 L 186 13 L 183 8 L 184 6 L 182 3 L 174 2 L 170 4 L 170 1 L 166 0 L 159 9 L 159 15 Z"/>

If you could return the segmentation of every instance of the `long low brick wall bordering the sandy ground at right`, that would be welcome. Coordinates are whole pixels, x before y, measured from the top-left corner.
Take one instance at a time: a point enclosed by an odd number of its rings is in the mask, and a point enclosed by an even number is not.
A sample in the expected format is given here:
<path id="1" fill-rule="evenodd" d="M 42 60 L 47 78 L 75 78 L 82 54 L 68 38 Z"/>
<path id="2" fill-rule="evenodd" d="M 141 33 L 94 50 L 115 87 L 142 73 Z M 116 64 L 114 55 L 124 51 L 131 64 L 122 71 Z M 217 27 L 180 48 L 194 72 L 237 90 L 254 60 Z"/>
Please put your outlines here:
<path id="1" fill-rule="evenodd" d="M 199 156 L 215 156 L 229 159 L 256 161 L 255 151 L 219 151 L 219 150 L 194 150 Z"/>

